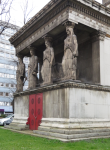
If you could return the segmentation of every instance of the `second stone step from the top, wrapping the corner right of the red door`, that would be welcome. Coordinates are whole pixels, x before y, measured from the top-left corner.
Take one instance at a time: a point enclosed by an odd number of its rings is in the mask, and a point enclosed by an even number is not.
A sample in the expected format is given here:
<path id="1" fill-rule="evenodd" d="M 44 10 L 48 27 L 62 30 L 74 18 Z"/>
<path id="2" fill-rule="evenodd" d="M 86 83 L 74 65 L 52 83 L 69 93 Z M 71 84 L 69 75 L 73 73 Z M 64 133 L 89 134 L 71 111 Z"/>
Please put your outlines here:
<path id="1" fill-rule="evenodd" d="M 89 137 L 99 137 L 99 136 L 110 136 L 110 132 L 97 132 L 97 133 L 82 133 L 82 134 L 60 134 L 53 132 L 46 132 L 40 130 L 34 130 L 34 134 L 57 137 L 61 139 L 79 139 L 79 138 L 89 138 Z"/>

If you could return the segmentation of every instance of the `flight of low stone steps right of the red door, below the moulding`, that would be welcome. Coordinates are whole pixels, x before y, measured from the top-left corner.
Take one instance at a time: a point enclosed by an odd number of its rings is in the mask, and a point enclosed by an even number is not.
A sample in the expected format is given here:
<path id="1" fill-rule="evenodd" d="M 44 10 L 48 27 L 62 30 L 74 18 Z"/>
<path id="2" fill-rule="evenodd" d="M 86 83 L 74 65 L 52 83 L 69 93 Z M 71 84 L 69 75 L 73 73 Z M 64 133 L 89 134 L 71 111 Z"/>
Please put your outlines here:
<path id="1" fill-rule="evenodd" d="M 95 129 L 57 129 L 49 127 L 39 127 L 33 131 L 37 136 L 50 139 L 58 139 L 63 142 L 89 140 L 95 138 L 110 138 L 110 128 Z"/>

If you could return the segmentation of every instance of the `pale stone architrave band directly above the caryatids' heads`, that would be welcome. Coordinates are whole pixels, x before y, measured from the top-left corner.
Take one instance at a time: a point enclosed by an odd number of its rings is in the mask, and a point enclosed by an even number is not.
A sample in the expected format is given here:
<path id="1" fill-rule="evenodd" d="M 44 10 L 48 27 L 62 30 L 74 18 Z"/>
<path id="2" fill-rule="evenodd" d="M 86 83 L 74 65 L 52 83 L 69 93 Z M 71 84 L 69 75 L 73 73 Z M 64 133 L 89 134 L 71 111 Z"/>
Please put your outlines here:
<path id="1" fill-rule="evenodd" d="M 69 11 L 69 13 L 66 11 Z M 69 14 L 69 17 L 68 17 L 68 14 Z M 73 20 L 73 18 L 74 18 L 74 20 Z M 27 39 L 25 39 L 21 44 L 19 44 L 16 47 L 17 53 L 19 53 L 20 51 L 25 49 L 27 46 L 29 46 L 30 44 L 32 44 L 39 38 L 42 38 L 42 36 L 44 34 L 47 34 L 52 29 L 54 29 L 55 28 L 54 23 L 56 24 L 56 26 L 58 26 L 67 19 L 69 21 L 72 21 L 75 23 L 85 24 L 91 28 L 94 28 L 96 30 L 101 30 L 101 31 L 107 33 L 107 35 L 110 35 L 109 27 L 104 25 L 100 21 L 97 22 L 93 18 L 90 18 L 83 14 L 77 13 L 72 9 L 70 9 L 70 10 L 66 9 L 65 11 L 62 11 L 57 17 L 54 17 L 52 20 L 50 20 L 46 25 L 40 27 L 36 32 L 34 32 L 31 36 L 29 36 Z M 76 22 L 76 20 L 78 20 L 78 22 Z"/>

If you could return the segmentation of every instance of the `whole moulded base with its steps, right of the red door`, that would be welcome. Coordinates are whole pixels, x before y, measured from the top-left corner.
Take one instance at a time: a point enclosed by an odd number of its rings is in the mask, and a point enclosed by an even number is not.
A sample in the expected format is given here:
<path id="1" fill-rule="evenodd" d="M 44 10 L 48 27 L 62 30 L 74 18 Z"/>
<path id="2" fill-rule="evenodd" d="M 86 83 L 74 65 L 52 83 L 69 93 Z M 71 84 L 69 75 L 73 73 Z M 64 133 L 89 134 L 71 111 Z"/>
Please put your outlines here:
<path id="1" fill-rule="evenodd" d="M 110 137 L 110 120 L 46 118 L 33 133 L 63 142 L 108 138 Z"/>

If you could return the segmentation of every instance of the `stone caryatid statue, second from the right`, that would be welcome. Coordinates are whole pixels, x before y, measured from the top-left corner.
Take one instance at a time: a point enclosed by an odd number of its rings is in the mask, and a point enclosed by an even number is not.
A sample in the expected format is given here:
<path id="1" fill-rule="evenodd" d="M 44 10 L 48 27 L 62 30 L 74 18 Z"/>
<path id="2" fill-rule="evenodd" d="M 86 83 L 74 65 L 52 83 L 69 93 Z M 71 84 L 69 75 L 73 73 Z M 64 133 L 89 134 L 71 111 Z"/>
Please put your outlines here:
<path id="1" fill-rule="evenodd" d="M 51 37 L 45 37 L 45 46 L 46 50 L 43 52 L 43 65 L 41 75 L 43 84 L 50 84 L 52 83 L 52 66 L 55 63 L 54 49 L 52 47 Z"/>

